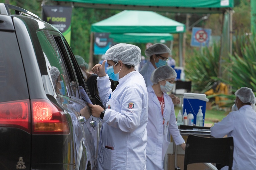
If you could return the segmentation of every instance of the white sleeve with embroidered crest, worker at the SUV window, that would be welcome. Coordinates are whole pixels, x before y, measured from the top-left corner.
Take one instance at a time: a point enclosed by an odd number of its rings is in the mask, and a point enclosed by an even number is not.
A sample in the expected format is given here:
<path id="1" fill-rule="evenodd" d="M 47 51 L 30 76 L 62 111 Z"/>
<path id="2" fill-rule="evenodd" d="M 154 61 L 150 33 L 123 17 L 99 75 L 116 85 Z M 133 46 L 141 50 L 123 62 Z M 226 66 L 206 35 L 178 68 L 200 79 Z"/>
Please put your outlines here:
<path id="1" fill-rule="evenodd" d="M 140 125 L 143 92 L 135 87 L 127 88 L 120 96 L 121 113 L 106 109 L 103 122 L 124 132 L 133 132 Z"/>

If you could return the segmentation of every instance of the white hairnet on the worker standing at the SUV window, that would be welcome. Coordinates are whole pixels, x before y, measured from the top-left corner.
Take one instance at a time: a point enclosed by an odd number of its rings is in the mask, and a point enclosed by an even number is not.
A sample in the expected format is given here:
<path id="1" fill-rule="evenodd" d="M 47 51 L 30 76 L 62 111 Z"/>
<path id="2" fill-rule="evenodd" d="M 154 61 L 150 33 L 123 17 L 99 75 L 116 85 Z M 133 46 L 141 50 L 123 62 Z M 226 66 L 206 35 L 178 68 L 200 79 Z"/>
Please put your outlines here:
<path id="1" fill-rule="evenodd" d="M 138 46 L 119 43 L 110 47 L 105 53 L 106 60 L 121 60 L 124 64 L 136 66 L 141 61 L 141 50 Z"/>

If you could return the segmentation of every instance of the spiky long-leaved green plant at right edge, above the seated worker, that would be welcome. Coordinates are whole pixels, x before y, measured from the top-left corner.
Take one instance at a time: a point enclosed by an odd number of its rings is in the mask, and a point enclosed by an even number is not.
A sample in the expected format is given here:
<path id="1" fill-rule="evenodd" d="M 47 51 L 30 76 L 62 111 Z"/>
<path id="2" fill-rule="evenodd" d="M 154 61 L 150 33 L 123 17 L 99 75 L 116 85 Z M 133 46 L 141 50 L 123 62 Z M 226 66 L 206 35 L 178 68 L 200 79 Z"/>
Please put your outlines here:
<path id="1" fill-rule="evenodd" d="M 221 79 L 224 83 L 232 86 L 234 90 L 241 87 L 249 87 L 256 91 L 256 36 L 238 35 L 236 40 L 238 49 L 230 56 L 226 66 L 230 80 Z"/>

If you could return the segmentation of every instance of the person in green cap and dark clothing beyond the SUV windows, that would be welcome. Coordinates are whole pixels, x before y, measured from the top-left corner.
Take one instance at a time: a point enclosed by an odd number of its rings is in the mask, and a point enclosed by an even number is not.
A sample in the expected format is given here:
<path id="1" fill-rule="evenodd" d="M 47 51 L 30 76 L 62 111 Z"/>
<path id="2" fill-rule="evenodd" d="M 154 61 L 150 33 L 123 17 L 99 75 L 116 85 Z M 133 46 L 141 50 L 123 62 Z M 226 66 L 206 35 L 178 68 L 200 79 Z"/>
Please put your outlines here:
<path id="1" fill-rule="evenodd" d="M 76 61 L 81 69 L 81 72 L 83 74 L 84 80 L 86 82 L 86 85 L 88 87 L 89 93 L 93 99 L 95 99 L 95 102 L 97 105 L 101 105 L 102 103 L 100 101 L 99 92 L 97 88 L 97 74 L 90 73 L 87 71 L 89 65 L 85 62 L 85 60 L 79 56 L 75 55 Z"/>

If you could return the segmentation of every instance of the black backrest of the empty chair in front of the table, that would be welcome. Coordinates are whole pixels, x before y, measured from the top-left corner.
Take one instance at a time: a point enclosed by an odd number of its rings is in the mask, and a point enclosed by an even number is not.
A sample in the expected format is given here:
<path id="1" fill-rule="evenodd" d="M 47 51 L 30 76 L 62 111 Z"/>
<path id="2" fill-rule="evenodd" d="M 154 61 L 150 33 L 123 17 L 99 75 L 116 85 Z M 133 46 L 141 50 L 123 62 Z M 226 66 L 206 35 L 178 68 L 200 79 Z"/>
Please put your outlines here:
<path id="1" fill-rule="evenodd" d="M 207 138 L 190 134 L 186 142 L 184 170 L 192 163 L 217 163 L 231 170 L 233 151 L 233 137 Z"/>

